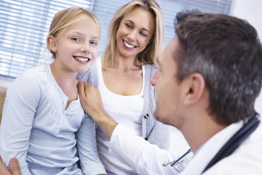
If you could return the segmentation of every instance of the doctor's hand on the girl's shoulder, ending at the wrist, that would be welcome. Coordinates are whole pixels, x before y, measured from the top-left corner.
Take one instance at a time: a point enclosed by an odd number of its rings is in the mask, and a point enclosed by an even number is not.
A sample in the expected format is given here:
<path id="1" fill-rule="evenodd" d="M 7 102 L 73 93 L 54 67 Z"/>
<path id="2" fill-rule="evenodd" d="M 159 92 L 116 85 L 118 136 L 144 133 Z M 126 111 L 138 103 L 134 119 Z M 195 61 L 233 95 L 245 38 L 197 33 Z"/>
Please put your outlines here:
<path id="1" fill-rule="evenodd" d="M 104 112 L 101 95 L 97 88 L 84 81 L 79 81 L 78 93 L 84 111 L 88 113 L 93 120 L 96 119 L 96 115 Z"/>

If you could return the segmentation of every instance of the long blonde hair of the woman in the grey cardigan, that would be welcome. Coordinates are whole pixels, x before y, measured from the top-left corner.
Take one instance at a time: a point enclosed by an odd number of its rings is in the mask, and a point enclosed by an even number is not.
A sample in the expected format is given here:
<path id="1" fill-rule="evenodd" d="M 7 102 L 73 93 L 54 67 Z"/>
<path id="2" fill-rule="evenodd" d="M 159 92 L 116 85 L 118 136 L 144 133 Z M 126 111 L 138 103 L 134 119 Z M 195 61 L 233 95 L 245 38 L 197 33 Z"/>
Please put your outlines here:
<path id="1" fill-rule="evenodd" d="M 156 25 L 155 33 L 151 38 L 151 42 L 137 55 L 137 59 L 139 59 L 142 64 L 156 64 L 156 57 L 162 50 L 162 44 L 164 41 L 164 22 L 161 8 L 155 0 L 132 0 L 117 10 L 109 24 L 109 42 L 105 49 L 104 63 L 107 63 L 107 60 L 110 57 L 112 59 L 112 66 L 114 65 L 114 61 L 116 61 L 117 30 L 124 15 L 129 13 L 135 7 L 141 7 L 150 12 L 155 17 Z"/>

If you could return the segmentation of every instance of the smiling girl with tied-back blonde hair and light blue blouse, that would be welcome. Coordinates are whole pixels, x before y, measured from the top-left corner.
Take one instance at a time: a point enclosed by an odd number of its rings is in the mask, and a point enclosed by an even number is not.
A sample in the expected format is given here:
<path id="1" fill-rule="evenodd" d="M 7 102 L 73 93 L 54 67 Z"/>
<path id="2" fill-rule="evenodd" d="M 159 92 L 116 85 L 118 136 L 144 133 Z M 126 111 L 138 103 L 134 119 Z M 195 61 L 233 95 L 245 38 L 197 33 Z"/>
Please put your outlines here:
<path id="1" fill-rule="evenodd" d="M 23 175 L 106 173 L 75 79 L 95 61 L 99 38 L 98 19 L 88 10 L 72 7 L 54 16 L 47 37 L 54 62 L 25 71 L 7 92 L 0 127 L 6 167 L 16 157 Z"/>

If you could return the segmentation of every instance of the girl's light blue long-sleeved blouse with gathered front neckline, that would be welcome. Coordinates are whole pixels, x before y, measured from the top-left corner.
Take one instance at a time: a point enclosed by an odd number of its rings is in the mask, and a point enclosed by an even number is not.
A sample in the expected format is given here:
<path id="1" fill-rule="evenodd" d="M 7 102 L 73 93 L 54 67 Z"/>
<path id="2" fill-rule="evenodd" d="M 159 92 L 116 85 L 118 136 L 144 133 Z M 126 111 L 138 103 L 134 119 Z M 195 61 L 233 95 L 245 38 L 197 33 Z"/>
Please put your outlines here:
<path id="1" fill-rule="evenodd" d="M 0 126 L 0 156 L 6 167 L 16 157 L 23 175 L 106 174 L 97 153 L 95 122 L 85 115 L 79 97 L 64 110 L 67 101 L 49 64 L 15 79 Z M 76 165 L 77 150 L 82 171 Z"/>

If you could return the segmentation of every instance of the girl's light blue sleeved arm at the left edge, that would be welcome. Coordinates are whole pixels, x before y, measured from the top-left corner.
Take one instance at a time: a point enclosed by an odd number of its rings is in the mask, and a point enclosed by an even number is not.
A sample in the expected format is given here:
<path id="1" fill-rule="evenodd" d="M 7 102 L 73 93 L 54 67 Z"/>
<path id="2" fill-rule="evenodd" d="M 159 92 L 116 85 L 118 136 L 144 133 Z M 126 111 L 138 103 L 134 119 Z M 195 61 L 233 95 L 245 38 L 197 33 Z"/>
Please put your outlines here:
<path id="1" fill-rule="evenodd" d="M 42 82 L 37 72 L 20 75 L 7 90 L 0 126 L 0 156 L 8 162 L 16 157 L 23 175 L 31 175 L 26 163 L 29 137 L 36 107 L 41 96 Z"/>

